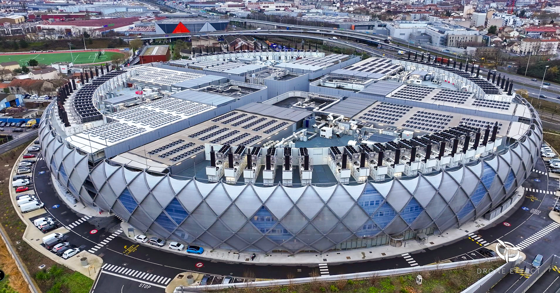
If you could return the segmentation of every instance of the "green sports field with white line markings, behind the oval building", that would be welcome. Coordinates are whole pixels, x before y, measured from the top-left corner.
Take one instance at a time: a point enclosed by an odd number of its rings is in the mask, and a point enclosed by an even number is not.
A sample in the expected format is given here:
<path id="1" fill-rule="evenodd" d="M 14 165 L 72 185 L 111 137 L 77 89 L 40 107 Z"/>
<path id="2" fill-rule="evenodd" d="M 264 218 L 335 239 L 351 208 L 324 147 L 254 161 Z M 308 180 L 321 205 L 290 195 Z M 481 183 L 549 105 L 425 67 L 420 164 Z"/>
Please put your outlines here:
<path id="1" fill-rule="evenodd" d="M 35 59 L 39 64 L 50 65 L 55 62 L 73 62 L 74 64 L 109 62 L 114 55 L 123 55 L 118 52 L 105 51 L 103 59 L 99 59 L 99 51 L 85 51 L 71 53 L 31 53 L 31 54 L 5 54 L 0 55 L 0 63 L 17 61 L 21 65 L 27 65 L 31 59 Z M 105 57 L 106 56 L 106 57 Z"/>

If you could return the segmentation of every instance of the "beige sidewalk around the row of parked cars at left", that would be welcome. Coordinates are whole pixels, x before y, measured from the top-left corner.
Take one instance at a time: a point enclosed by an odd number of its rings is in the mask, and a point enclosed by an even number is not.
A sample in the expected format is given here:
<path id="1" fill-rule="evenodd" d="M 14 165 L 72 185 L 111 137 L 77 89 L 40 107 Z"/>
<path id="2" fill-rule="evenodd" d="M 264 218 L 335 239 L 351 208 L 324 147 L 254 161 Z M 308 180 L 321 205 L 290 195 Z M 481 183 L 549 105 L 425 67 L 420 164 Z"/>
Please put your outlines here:
<path id="1" fill-rule="evenodd" d="M 25 153 L 25 151 L 24 151 Z M 22 153 L 23 154 L 23 153 Z M 22 154 L 20 154 L 20 157 L 18 158 L 18 160 L 22 159 Z M 12 176 L 13 174 L 15 174 L 15 169 L 17 167 L 17 164 L 14 164 L 14 166 L 12 167 Z M 12 183 L 12 179 L 10 178 L 10 186 Z M 26 191 L 26 193 L 29 193 L 31 195 L 36 194 L 35 193 L 36 188 L 34 188 L 33 190 L 29 190 Z M 66 234 L 69 232 L 68 229 L 66 229 L 63 225 L 60 226 L 60 228 L 55 229 L 53 231 L 51 231 L 50 233 L 46 233 L 43 234 L 39 229 L 37 229 L 33 223 L 31 223 L 30 218 L 39 216 L 39 215 L 43 215 L 44 216 L 51 216 L 48 213 L 48 211 L 46 209 L 39 209 L 39 210 L 35 210 L 35 211 L 30 211 L 27 212 L 25 214 L 21 213 L 21 210 L 18 208 L 17 206 L 17 202 L 16 202 L 16 193 L 15 193 L 15 188 L 10 188 L 10 199 L 12 200 L 12 205 L 13 208 L 16 210 L 17 215 L 20 217 L 20 219 L 25 223 L 25 225 L 27 225 L 27 227 L 25 228 L 24 231 L 24 235 L 22 237 L 22 239 L 24 239 L 24 241 L 31 245 L 32 248 L 34 248 L 36 251 L 42 253 L 44 256 L 52 259 L 53 261 L 62 264 L 63 266 L 66 266 L 68 268 L 70 268 L 73 271 L 77 271 L 82 273 L 83 275 L 90 277 L 92 280 L 95 280 L 95 278 L 97 277 L 97 273 L 99 273 L 99 270 L 101 269 L 101 265 L 103 264 L 103 260 L 96 256 L 95 254 L 91 254 L 87 251 L 81 251 L 80 253 L 76 254 L 75 256 L 68 258 L 68 259 L 63 259 L 62 257 L 57 256 L 56 254 L 48 251 L 47 249 L 45 249 L 43 246 L 41 246 L 41 244 L 43 244 L 43 237 L 45 237 L 46 235 L 49 235 L 51 233 L 63 233 Z M 54 217 L 53 217 L 54 218 Z M 88 265 L 83 267 L 80 259 L 82 257 L 87 257 L 87 261 L 88 261 Z M 38 266 L 40 266 L 41 264 L 38 263 Z"/>

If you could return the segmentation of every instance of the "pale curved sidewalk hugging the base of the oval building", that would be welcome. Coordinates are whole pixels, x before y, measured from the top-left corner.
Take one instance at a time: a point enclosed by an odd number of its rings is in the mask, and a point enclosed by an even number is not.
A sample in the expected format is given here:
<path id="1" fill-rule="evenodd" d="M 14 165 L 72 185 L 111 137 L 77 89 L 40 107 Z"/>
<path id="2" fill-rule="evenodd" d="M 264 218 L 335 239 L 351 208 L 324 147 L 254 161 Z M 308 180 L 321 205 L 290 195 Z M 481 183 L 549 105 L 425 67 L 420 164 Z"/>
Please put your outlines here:
<path id="1" fill-rule="evenodd" d="M 516 196 L 514 202 L 508 207 L 507 210 L 502 211 L 501 214 L 498 214 L 496 218 L 492 220 L 496 220 L 501 218 L 501 216 L 505 215 L 508 211 L 514 207 L 519 200 L 523 198 L 525 193 L 524 188 L 520 187 L 517 188 L 519 195 Z M 416 240 L 410 240 L 405 242 L 402 247 L 393 247 L 391 245 L 384 245 L 379 247 L 371 247 L 371 248 L 364 248 L 364 249 L 354 249 L 351 251 L 334 251 L 334 252 L 327 252 L 324 254 L 319 253 L 298 253 L 295 256 L 290 253 L 271 253 L 271 254 L 256 254 L 254 260 L 251 261 L 251 255 L 253 253 L 248 252 L 237 252 L 231 251 L 228 249 L 213 249 L 211 251 L 204 250 L 204 252 L 200 255 L 198 254 L 188 254 L 190 257 L 193 258 L 200 258 L 200 259 L 208 259 L 211 261 L 222 261 L 222 262 L 235 262 L 235 263 L 250 263 L 250 264 L 276 264 L 276 265 L 283 265 L 283 266 L 317 266 L 319 263 L 329 263 L 329 264 L 342 264 L 342 263 L 349 263 L 349 262 L 365 262 L 365 261 L 373 261 L 375 259 L 381 258 L 391 258 L 391 257 L 400 257 L 404 253 L 413 253 L 417 251 L 423 251 L 424 249 L 435 249 L 437 247 L 443 246 L 446 243 L 454 242 L 455 240 L 459 240 L 462 238 L 466 238 L 469 236 L 470 233 L 474 231 L 478 231 L 479 229 L 483 228 L 486 225 L 491 225 L 492 220 L 488 221 L 486 219 L 477 219 L 472 221 L 468 224 L 464 224 L 460 226 L 460 228 L 451 229 L 445 231 L 442 235 L 432 235 L 428 238 L 426 244 L 418 243 Z M 129 237 L 130 239 L 134 240 L 134 235 L 142 234 L 141 231 L 134 229 L 134 232 L 128 232 L 128 228 L 132 228 L 128 223 L 121 223 L 120 226 L 122 227 L 124 235 Z M 152 237 L 153 235 L 146 235 L 148 238 Z M 491 243 L 488 243 L 491 244 Z M 488 245 L 486 244 L 486 245 Z M 144 244 L 149 245 L 149 244 Z M 150 247 L 155 248 L 154 246 L 150 245 Z M 170 249 L 166 245 L 162 248 L 165 251 L 169 251 Z M 176 252 L 176 251 L 174 251 Z M 185 253 L 185 251 L 181 251 L 178 253 Z"/>

